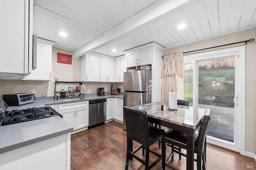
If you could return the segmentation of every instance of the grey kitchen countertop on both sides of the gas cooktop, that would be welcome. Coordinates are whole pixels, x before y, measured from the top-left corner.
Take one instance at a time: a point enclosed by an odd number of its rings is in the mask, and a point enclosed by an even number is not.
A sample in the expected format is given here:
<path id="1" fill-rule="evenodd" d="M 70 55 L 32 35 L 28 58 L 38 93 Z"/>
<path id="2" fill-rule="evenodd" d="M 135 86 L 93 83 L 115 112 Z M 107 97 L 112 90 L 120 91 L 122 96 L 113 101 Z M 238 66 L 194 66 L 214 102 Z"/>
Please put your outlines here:
<path id="1" fill-rule="evenodd" d="M 28 109 L 32 107 L 44 107 L 57 104 L 72 102 L 82 102 L 102 98 L 123 98 L 123 95 L 106 95 L 106 96 L 85 96 L 82 100 L 54 100 L 51 98 L 40 98 L 34 103 L 24 104 L 21 106 L 10 106 L 7 111 L 16 109 Z M 45 100 L 43 100 L 45 99 Z M 14 150 L 32 143 L 40 142 L 58 135 L 72 132 L 73 127 L 64 121 L 60 116 L 47 117 L 33 121 L 15 123 L 11 125 L 0 126 L 0 154 Z"/>

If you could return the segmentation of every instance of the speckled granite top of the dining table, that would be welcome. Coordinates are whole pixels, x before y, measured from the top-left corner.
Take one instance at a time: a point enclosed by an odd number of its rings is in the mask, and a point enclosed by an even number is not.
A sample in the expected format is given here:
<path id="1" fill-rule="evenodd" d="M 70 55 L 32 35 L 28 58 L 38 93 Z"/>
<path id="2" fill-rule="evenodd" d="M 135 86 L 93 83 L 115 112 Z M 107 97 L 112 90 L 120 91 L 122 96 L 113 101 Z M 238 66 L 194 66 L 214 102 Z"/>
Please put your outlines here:
<path id="1" fill-rule="evenodd" d="M 203 117 L 205 108 L 188 107 L 178 105 L 177 111 L 161 111 L 161 103 L 153 102 L 133 108 L 147 111 L 148 117 L 153 117 L 177 125 L 182 125 L 195 129 L 200 119 Z"/>

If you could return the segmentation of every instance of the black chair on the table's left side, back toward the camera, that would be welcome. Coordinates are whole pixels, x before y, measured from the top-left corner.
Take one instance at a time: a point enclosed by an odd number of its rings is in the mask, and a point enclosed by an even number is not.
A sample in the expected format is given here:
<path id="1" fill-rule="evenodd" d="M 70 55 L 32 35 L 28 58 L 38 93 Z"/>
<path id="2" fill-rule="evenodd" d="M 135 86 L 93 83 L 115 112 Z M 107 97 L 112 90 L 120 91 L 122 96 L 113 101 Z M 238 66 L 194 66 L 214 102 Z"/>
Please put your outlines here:
<path id="1" fill-rule="evenodd" d="M 145 170 L 150 170 L 155 166 L 160 160 L 162 160 L 162 155 L 150 150 L 150 145 L 156 143 L 164 136 L 165 131 L 158 127 L 149 125 L 148 115 L 146 111 L 134 109 L 131 107 L 124 106 L 124 117 L 126 120 L 126 133 L 127 133 L 127 152 L 126 152 L 126 165 L 125 169 L 128 169 L 129 160 L 136 158 L 142 164 L 145 165 Z M 133 151 L 132 141 L 136 141 L 141 144 L 140 147 Z M 135 155 L 135 153 L 142 149 L 142 154 L 144 155 L 144 149 L 146 149 L 146 160 Z M 158 159 L 149 165 L 149 152 L 155 154 Z"/>

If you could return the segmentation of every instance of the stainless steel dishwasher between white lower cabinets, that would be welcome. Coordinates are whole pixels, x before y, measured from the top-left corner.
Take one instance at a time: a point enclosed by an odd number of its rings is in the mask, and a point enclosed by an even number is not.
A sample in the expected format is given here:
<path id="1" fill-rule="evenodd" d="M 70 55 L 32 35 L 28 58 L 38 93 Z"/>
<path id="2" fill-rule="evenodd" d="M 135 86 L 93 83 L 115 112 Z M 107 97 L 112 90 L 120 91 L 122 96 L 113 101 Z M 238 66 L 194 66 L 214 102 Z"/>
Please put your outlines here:
<path id="1" fill-rule="evenodd" d="M 89 127 L 106 121 L 106 99 L 89 100 Z"/>

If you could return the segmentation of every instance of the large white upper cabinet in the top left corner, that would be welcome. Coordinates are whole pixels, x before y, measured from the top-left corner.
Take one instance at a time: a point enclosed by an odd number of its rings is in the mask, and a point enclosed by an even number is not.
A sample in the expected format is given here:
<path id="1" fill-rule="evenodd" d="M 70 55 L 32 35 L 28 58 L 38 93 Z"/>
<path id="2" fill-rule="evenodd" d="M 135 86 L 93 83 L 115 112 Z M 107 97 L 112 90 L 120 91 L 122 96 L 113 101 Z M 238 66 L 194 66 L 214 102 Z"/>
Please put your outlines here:
<path id="1" fill-rule="evenodd" d="M 0 78 L 32 72 L 33 0 L 0 1 Z"/>

